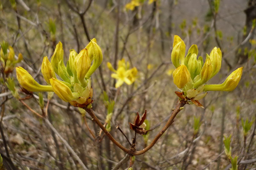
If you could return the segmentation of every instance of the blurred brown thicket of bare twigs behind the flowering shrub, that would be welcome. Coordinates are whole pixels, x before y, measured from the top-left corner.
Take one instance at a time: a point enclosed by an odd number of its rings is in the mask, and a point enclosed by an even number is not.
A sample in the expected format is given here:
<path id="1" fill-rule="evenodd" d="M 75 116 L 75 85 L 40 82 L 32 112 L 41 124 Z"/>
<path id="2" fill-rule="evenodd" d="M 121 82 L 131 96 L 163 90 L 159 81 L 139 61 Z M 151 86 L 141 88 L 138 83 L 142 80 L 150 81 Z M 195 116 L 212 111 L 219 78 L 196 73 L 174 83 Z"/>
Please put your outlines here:
<path id="1" fill-rule="evenodd" d="M 46 85 L 41 73 L 43 57 L 52 56 L 59 41 L 66 63 L 70 49 L 79 52 L 92 38 L 97 39 L 103 62 L 92 75 L 93 110 L 104 123 L 108 112 L 103 93 L 115 100 L 110 133 L 128 148 L 116 126 L 131 140 L 134 132 L 128 122 L 133 122 L 136 112 L 142 115 L 147 109 L 147 126 L 156 129 L 148 136 L 137 136 L 137 150 L 151 142 L 178 101 L 174 91 L 179 89 L 172 79 L 173 36 L 179 35 L 187 50 L 196 44 L 204 61 L 212 48 L 220 48 L 222 67 L 207 84 L 222 83 L 232 71 L 244 67 L 236 89 L 208 92 L 200 101 L 205 109 L 186 105 L 155 146 L 134 158 L 132 167 L 228 169 L 231 165 L 224 152 L 223 135 L 232 134 L 232 156 L 239 156 L 239 169 L 255 168 L 255 0 L 2 0 L 0 7 L 0 41 L 13 47 L 16 58 L 19 53 L 23 55 L 16 66 L 28 70 L 40 84 Z M 136 67 L 138 74 L 132 85 L 116 89 L 107 62 L 117 69 L 121 59 Z M 12 96 L 3 75 L 0 153 L 6 169 L 83 169 L 44 121 Z M 19 95 L 26 97 L 15 70 L 6 76 L 14 78 Z M 42 114 L 38 93 L 32 96 L 25 103 Z M 47 93 L 43 96 L 46 105 Z M 55 94 L 50 101 L 50 122 L 84 165 L 88 169 L 112 169 L 125 153 L 100 132 L 88 114 L 85 116 L 98 138 L 89 133 L 77 108 Z M 242 120 L 246 119 L 252 125 L 245 137 Z M 201 125 L 197 131 L 196 121 Z M 120 169 L 129 164 L 125 162 Z"/>

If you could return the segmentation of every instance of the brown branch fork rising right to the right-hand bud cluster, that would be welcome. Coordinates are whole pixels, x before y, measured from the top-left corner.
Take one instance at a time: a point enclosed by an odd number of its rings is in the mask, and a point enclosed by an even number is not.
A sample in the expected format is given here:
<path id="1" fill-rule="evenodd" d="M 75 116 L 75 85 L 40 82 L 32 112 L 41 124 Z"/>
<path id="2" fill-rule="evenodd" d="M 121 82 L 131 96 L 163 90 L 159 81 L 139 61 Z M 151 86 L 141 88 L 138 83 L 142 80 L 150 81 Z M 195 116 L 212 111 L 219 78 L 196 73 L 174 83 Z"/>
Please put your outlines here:
<path id="1" fill-rule="evenodd" d="M 172 111 L 172 115 L 170 116 L 169 120 L 166 122 L 165 126 L 158 132 L 158 134 L 152 140 L 152 142 L 141 151 L 135 152 L 133 155 L 141 155 L 147 152 L 150 148 L 152 148 L 156 144 L 157 140 L 164 134 L 165 130 L 171 126 L 174 118 L 180 112 L 180 107 L 183 107 L 185 104 L 186 104 L 186 101 L 181 100 L 180 103 L 177 105 L 177 107 Z"/>

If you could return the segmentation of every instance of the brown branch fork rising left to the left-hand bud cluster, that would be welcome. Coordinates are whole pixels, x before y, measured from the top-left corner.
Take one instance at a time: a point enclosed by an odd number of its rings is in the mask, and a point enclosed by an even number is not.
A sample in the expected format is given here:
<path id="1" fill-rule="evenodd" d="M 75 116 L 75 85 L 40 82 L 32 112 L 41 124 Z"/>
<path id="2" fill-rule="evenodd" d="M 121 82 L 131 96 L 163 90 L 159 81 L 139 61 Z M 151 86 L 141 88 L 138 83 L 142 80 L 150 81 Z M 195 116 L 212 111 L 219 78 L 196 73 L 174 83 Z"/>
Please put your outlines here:
<path id="1" fill-rule="evenodd" d="M 122 149 L 124 152 L 128 153 L 129 150 L 127 148 L 125 148 L 122 144 L 120 144 L 119 142 L 116 141 L 116 139 L 114 137 L 112 137 L 112 135 L 108 132 L 108 130 L 103 126 L 103 124 L 100 122 L 100 120 L 97 118 L 97 116 L 94 114 L 92 109 L 88 109 L 88 108 L 83 108 L 91 117 L 92 120 L 100 127 L 100 129 L 103 130 L 103 132 L 108 136 L 108 138 L 114 143 L 116 144 L 116 146 L 118 146 L 120 149 Z"/>

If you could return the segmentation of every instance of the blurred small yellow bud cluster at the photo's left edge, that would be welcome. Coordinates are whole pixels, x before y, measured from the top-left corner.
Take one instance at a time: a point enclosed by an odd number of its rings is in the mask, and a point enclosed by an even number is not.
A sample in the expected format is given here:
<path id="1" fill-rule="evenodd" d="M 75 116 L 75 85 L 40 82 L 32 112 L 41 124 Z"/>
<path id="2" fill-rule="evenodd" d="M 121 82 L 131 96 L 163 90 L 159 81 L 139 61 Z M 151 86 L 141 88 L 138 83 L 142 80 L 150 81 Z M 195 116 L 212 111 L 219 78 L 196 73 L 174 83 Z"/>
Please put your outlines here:
<path id="1" fill-rule="evenodd" d="M 1 51 L 0 51 L 0 57 L 1 57 L 1 65 L 4 68 L 4 74 L 6 77 L 8 74 L 12 73 L 12 71 L 15 68 L 15 65 L 17 63 L 20 63 L 23 59 L 23 56 L 21 53 L 18 55 L 18 59 L 15 59 L 15 53 L 12 46 L 9 46 L 7 42 L 3 41 L 1 43 Z"/>

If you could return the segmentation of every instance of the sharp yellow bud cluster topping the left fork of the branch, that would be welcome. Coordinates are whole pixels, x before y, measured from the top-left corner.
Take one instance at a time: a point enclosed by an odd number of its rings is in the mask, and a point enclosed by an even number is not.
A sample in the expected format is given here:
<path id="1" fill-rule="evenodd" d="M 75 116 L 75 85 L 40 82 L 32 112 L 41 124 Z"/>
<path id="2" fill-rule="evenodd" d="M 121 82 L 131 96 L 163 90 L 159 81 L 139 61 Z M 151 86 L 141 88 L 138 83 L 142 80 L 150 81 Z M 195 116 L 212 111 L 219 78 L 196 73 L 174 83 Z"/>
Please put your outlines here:
<path id="1" fill-rule="evenodd" d="M 32 92 L 53 91 L 60 99 L 75 107 L 91 107 L 90 104 L 93 102 L 91 75 L 102 62 L 100 46 L 96 39 L 92 39 L 79 54 L 71 49 L 67 66 L 63 61 L 63 53 L 62 43 L 59 42 L 51 62 L 47 57 L 43 59 L 41 71 L 48 85 L 38 84 L 25 69 L 16 67 L 20 85 Z M 62 80 L 57 79 L 55 73 Z"/>

